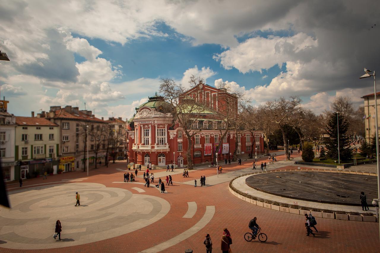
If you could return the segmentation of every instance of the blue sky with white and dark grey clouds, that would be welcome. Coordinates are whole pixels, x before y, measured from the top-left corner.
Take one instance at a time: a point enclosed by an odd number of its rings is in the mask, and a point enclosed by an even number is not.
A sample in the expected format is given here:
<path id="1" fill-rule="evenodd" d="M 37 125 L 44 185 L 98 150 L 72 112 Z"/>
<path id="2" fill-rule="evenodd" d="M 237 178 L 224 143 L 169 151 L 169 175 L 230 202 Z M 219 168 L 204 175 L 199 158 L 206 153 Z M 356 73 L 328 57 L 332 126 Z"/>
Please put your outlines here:
<path id="1" fill-rule="evenodd" d="M 129 119 L 161 78 L 228 82 L 253 104 L 300 96 L 354 106 L 380 71 L 380 1 L 3 0 L 0 96 L 30 116 L 78 106 Z M 377 25 L 375 25 L 377 24 Z"/>

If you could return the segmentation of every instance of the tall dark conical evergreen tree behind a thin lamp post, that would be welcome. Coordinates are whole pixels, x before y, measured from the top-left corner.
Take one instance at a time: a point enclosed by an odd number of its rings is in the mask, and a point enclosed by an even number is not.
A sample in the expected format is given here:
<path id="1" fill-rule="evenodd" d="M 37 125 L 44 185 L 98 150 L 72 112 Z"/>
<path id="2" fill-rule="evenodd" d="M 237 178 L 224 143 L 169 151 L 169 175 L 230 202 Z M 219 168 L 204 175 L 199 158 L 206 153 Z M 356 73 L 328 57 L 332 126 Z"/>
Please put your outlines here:
<path id="1" fill-rule="evenodd" d="M 326 140 L 327 157 L 338 159 L 338 128 L 337 115 L 331 114 L 328 119 L 326 132 L 329 138 Z M 339 151 L 340 160 L 347 161 L 352 158 L 352 149 L 347 136 L 349 122 L 344 115 L 339 114 Z"/>

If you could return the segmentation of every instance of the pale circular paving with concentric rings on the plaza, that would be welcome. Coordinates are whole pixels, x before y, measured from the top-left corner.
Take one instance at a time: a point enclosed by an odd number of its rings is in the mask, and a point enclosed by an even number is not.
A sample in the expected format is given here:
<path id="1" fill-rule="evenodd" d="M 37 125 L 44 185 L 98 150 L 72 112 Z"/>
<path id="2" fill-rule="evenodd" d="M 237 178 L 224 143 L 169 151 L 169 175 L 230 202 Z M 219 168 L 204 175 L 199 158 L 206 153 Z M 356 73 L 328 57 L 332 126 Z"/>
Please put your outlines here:
<path id="1" fill-rule="evenodd" d="M 74 206 L 76 191 L 82 206 Z M 170 210 L 162 198 L 99 183 L 28 188 L 9 199 L 12 209 L 0 207 L 0 237 L 6 242 L 2 247 L 15 249 L 58 248 L 109 239 L 148 226 Z M 52 238 L 57 220 L 62 224 L 62 241 Z"/>

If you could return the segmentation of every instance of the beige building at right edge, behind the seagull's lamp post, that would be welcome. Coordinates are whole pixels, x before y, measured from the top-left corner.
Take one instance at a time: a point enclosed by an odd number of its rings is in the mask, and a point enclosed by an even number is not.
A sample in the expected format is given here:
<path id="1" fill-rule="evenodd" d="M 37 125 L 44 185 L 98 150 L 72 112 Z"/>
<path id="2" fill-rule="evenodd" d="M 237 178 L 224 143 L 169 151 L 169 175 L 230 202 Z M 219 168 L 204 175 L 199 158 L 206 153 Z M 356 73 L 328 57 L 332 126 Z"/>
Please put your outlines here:
<path id="1" fill-rule="evenodd" d="M 377 115 L 380 118 L 380 92 L 376 93 L 377 96 Z M 370 143 L 371 139 L 375 136 L 375 96 L 374 93 L 362 96 L 364 99 L 364 123 L 366 128 L 366 142 Z M 379 119 L 377 119 L 380 122 Z M 378 123 L 377 123 L 378 124 Z M 379 129 L 380 130 L 380 129 Z M 380 134 L 380 131 L 379 131 Z"/>

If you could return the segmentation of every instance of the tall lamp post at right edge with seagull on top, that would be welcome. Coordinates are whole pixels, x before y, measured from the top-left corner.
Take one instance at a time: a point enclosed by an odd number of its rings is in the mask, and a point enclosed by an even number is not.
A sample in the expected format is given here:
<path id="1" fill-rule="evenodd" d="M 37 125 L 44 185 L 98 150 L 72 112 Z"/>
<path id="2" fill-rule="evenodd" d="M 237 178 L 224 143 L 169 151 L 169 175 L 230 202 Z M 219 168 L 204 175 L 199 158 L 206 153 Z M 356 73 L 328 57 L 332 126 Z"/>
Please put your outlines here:
<path id="1" fill-rule="evenodd" d="M 366 68 L 364 68 L 364 71 L 366 72 L 366 74 L 364 74 L 363 76 L 359 77 L 359 79 L 362 79 L 362 78 L 367 78 L 367 77 L 371 77 L 373 76 L 374 77 L 374 96 L 375 96 L 375 136 L 376 136 L 376 167 L 377 167 L 377 199 L 374 199 L 374 201 L 372 201 L 372 204 L 373 205 L 378 205 L 379 202 L 380 202 L 380 167 L 379 167 L 379 134 L 378 134 L 378 117 L 377 117 L 377 94 L 376 94 L 376 74 L 375 74 L 375 71 L 373 74 L 369 74 L 370 70 L 367 70 Z M 379 218 L 379 212 L 378 212 L 378 207 L 376 207 L 376 216 L 377 218 Z M 379 223 L 379 231 L 380 231 L 380 223 Z"/>

